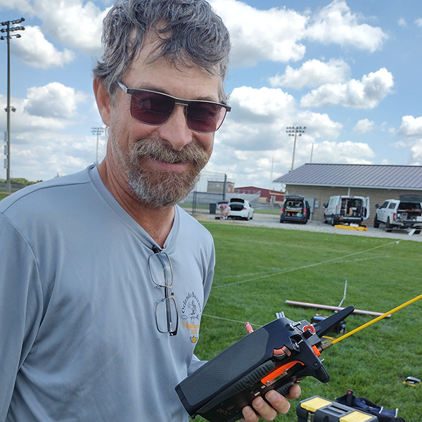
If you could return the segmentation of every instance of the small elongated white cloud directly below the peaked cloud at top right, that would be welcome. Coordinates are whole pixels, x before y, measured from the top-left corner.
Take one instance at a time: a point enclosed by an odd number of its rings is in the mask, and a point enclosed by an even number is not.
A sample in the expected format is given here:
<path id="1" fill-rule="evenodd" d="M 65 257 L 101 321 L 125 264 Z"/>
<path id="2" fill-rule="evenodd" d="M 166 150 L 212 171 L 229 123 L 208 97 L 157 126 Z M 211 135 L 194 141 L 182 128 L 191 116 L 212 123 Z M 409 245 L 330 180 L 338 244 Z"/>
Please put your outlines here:
<path id="1" fill-rule="evenodd" d="M 284 75 L 271 77 L 271 86 L 291 87 L 302 89 L 303 87 L 318 87 L 326 83 L 340 83 L 350 73 L 350 67 L 343 60 L 331 59 L 327 63 L 320 60 L 307 60 L 299 69 L 286 67 Z"/>

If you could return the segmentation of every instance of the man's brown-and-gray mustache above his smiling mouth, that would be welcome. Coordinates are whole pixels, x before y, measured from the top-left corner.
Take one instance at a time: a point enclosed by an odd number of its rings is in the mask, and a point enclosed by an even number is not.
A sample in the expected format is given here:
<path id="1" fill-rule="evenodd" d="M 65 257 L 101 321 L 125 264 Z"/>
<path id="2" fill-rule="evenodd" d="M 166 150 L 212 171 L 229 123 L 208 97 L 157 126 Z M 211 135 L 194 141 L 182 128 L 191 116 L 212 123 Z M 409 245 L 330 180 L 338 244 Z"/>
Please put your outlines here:
<path id="1" fill-rule="evenodd" d="M 188 143 L 180 151 L 176 151 L 167 142 L 159 139 L 138 141 L 131 155 L 135 159 L 151 157 L 170 164 L 193 162 L 197 165 L 205 165 L 210 158 L 208 153 L 196 143 Z"/>

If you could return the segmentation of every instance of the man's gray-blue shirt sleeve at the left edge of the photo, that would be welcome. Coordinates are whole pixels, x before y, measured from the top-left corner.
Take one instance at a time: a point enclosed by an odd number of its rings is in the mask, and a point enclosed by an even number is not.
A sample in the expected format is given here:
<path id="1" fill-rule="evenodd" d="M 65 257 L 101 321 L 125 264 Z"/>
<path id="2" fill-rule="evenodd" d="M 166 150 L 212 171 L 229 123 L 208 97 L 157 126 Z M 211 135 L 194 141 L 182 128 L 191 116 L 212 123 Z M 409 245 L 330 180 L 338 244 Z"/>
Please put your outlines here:
<path id="1" fill-rule="evenodd" d="M 8 414 L 17 373 L 42 314 L 37 262 L 25 238 L 0 215 L 0 421 Z"/>

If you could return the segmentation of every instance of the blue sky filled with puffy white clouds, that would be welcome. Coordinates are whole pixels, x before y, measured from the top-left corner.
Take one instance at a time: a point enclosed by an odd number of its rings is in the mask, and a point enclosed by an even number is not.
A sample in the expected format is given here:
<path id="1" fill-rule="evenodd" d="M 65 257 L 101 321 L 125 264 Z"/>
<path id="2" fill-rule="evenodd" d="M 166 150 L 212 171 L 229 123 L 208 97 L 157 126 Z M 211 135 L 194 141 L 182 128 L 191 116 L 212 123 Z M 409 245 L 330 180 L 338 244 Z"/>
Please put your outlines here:
<path id="1" fill-rule="evenodd" d="M 306 162 L 422 165 L 420 0 L 210 3 L 231 34 L 232 110 L 207 172 L 236 187 L 277 189 L 274 179 Z M 97 149 L 91 129 L 103 127 L 91 68 L 111 4 L 0 0 L 0 22 L 25 18 L 14 32 L 22 37 L 11 39 L 11 177 L 51 179 L 103 158 L 106 139 L 98 136 Z M 6 63 L 0 41 L 2 109 Z M 286 127 L 306 127 L 294 161 Z"/>

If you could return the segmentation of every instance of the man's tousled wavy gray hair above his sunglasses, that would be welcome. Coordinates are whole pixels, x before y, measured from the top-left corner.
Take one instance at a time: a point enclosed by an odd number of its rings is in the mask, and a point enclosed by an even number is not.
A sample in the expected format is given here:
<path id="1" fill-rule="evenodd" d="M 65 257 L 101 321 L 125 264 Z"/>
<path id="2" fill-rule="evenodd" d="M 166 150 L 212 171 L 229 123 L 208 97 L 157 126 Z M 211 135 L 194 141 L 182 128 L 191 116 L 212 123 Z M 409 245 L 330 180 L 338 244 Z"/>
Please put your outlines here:
<path id="1" fill-rule="evenodd" d="M 220 78 L 219 101 L 226 102 L 230 37 L 222 19 L 205 0 L 117 0 L 103 20 L 104 53 L 93 73 L 111 96 L 146 35 L 154 31 L 158 47 L 148 58 L 172 65 L 197 65 Z"/>

